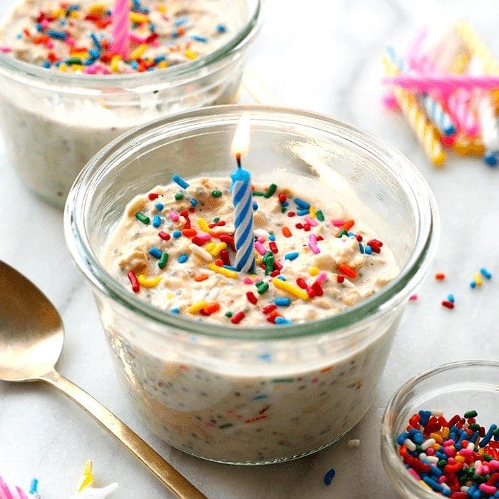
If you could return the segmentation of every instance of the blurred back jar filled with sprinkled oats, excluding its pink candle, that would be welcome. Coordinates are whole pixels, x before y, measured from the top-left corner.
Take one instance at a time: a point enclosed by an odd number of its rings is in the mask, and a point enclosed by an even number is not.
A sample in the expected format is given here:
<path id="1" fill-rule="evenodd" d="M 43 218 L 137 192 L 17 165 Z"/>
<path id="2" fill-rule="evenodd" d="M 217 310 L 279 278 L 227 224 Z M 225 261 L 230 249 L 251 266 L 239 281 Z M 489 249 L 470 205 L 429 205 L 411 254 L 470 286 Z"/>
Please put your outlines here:
<path id="1" fill-rule="evenodd" d="M 125 130 L 237 98 L 259 0 L 24 0 L 0 21 L 0 128 L 9 162 L 63 205 L 93 154 Z"/>

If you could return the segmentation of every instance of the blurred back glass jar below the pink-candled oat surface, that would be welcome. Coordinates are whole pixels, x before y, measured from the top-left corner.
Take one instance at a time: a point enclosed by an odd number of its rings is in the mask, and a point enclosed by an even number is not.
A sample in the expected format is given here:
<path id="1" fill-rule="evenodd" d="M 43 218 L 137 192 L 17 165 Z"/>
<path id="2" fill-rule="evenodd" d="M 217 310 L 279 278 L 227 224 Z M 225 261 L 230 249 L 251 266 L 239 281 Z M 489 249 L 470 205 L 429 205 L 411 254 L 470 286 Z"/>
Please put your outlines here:
<path id="1" fill-rule="evenodd" d="M 0 132 L 26 187 L 58 207 L 83 165 L 126 130 L 237 100 L 260 0 L 223 0 L 235 35 L 190 63 L 129 75 L 49 71 L 0 52 Z M 19 2 L 12 2 L 19 3 Z"/>

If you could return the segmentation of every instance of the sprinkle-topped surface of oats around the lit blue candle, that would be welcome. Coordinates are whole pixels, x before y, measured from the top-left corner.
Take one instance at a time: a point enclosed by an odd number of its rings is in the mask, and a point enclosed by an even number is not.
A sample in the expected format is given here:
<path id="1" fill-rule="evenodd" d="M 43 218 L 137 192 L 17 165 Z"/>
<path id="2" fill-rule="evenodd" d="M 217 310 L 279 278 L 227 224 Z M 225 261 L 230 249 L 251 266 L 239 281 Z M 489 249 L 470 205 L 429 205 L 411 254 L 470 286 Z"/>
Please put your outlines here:
<path id="1" fill-rule="evenodd" d="M 234 208 L 222 178 L 135 197 L 103 263 L 155 307 L 242 326 L 336 314 L 398 274 L 391 250 L 334 200 L 274 185 L 255 186 L 253 200 L 255 274 L 232 267 Z"/>

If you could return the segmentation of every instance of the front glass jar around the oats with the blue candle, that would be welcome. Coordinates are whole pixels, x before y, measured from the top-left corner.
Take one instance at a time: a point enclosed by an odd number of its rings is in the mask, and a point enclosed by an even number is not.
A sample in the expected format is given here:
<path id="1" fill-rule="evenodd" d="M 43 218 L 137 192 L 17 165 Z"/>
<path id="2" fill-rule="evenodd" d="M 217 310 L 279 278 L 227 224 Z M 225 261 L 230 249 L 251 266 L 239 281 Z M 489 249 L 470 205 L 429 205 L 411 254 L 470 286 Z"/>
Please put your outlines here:
<path id="1" fill-rule="evenodd" d="M 262 328 L 170 314 L 110 277 L 101 252 L 127 202 L 174 173 L 227 178 L 243 110 L 252 121 L 252 180 L 280 177 L 302 192 L 355 202 L 356 216 L 396 256 L 393 282 L 332 317 Z M 364 416 L 408 295 L 428 271 L 437 218 L 418 170 L 374 135 L 305 111 L 220 106 L 157 120 L 98 153 L 68 196 L 65 231 L 140 419 L 187 453 L 260 464 L 329 446 Z"/>

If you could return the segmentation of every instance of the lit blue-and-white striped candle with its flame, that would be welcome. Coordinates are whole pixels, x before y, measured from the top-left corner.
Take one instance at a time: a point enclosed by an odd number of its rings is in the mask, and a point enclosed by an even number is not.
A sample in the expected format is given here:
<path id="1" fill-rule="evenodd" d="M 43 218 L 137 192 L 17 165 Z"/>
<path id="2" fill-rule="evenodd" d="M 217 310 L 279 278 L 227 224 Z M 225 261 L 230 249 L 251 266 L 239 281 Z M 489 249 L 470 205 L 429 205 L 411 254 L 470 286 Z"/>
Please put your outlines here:
<path id="1" fill-rule="evenodd" d="M 241 156 L 246 153 L 249 145 L 249 114 L 243 113 L 237 125 L 234 140 L 232 140 L 232 154 L 237 161 L 237 170 L 232 178 L 232 202 L 234 204 L 235 225 L 235 267 L 240 272 L 254 272 L 253 249 L 253 195 L 251 190 L 251 175 L 241 168 Z"/>

